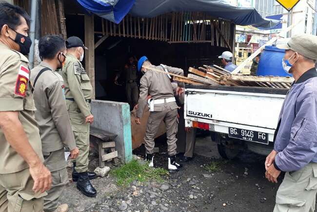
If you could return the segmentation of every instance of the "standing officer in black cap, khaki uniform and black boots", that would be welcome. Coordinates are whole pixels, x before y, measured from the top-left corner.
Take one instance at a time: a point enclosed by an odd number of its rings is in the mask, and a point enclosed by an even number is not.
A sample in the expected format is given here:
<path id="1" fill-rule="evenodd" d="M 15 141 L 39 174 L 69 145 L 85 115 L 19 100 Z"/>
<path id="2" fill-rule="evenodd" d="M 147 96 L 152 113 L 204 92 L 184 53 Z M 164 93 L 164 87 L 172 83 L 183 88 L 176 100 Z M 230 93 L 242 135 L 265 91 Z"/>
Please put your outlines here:
<path id="1" fill-rule="evenodd" d="M 92 85 L 86 70 L 80 63 L 84 57 L 84 50 L 88 50 L 78 37 L 66 40 L 66 61 L 60 74 L 64 79 L 66 107 L 72 124 L 79 156 L 74 162 L 73 181 L 77 181 L 77 188 L 86 196 L 96 196 L 97 191 L 90 183 L 96 178 L 94 172 L 88 171 L 89 129 L 94 121 L 90 111 Z M 93 51 L 93 50 L 92 50 Z"/>

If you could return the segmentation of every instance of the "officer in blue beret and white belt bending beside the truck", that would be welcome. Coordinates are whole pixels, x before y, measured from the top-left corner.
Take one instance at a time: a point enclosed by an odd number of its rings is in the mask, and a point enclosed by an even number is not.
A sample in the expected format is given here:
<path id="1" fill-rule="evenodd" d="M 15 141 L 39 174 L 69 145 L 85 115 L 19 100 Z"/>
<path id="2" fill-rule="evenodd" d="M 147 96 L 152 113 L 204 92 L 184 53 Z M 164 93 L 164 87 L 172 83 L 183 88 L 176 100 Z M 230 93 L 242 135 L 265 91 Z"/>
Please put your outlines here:
<path id="1" fill-rule="evenodd" d="M 168 145 L 168 170 L 178 171 L 182 168 L 181 165 L 176 163 L 176 132 L 177 132 L 177 109 L 176 100 L 171 84 L 169 75 L 159 73 L 152 70 L 147 70 L 142 67 L 150 66 L 161 71 L 168 71 L 178 75 L 183 75 L 184 72 L 180 68 L 169 67 L 165 65 L 154 66 L 148 59 L 143 56 L 138 63 L 138 69 L 141 70 L 144 75 L 140 81 L 140 95 L 139 104 L 137 109 L 136 123 L 140 124 L 140 117 L 142 117 L 143 110 L 146 106 L 147 95 L 152 96 L 154 109 L 151 111 L 148 123 L 146 126 L 146 132 L 144 137 L 146 148 L 146 160 L 150 161 L 150 166 L 153 166 L 153 149 L 155 146 L 154 137 L 157 133 L 158 127 L 162 121 L 166 125 L 167 145 Z"/>

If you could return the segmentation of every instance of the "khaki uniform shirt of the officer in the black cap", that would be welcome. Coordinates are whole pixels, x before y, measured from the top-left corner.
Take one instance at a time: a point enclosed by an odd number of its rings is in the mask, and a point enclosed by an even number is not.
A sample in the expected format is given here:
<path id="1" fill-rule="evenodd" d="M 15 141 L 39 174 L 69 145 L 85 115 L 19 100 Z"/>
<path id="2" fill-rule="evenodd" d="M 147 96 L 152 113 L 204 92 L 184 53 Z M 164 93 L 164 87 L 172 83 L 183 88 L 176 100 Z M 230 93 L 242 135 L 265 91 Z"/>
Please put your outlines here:
<path id="1" fill-rule="evenodd" d="M 92 98 L 93 87 L 82 64 L 75 56 L 66 54 L 60 75 L 64 79 L 66 99 L 74 99 L 84 117 L 89 116 L 91 112 L 86 100 Z"/>

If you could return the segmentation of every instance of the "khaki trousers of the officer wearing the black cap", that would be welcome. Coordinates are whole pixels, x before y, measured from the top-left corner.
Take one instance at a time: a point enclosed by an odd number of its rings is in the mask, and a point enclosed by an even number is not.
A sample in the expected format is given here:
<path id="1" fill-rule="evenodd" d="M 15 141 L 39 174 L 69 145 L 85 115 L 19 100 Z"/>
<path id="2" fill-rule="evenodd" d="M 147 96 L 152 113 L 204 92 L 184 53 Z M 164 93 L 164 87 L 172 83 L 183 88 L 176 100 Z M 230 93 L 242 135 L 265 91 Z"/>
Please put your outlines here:
<path id="1" fill-rule="evenodd" d="M 90 108 L 90 104 L 87 103 Z M 90 124 L 86 124 L 86 117 L 80 112 L 79 107 L 74 101 L 67 101 L 66 106 L 68 106 L 68 114 L 70 118 L 70 123 L 72 125 L 72 130 L 74 133 L 76 146 L 79 149 L 79 155 L 76 158 L 77 172 L 88 171 L 89 163 L 89 133 Z"/>

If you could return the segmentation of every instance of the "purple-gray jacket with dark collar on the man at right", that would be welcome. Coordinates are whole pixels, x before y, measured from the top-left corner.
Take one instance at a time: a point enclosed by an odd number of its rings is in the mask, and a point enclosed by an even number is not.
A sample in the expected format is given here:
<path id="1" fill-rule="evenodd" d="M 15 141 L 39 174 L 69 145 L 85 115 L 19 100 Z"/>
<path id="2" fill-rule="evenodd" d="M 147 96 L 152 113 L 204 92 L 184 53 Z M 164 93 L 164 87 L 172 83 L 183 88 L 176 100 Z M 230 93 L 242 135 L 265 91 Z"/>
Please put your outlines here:
<path id="1" fill-rule="evenodd" d="M 317 163 L 317 71 L 305 72 L 290 88 L 282 106 L 274 149 L 278 170 L 297 171 Z"/>

